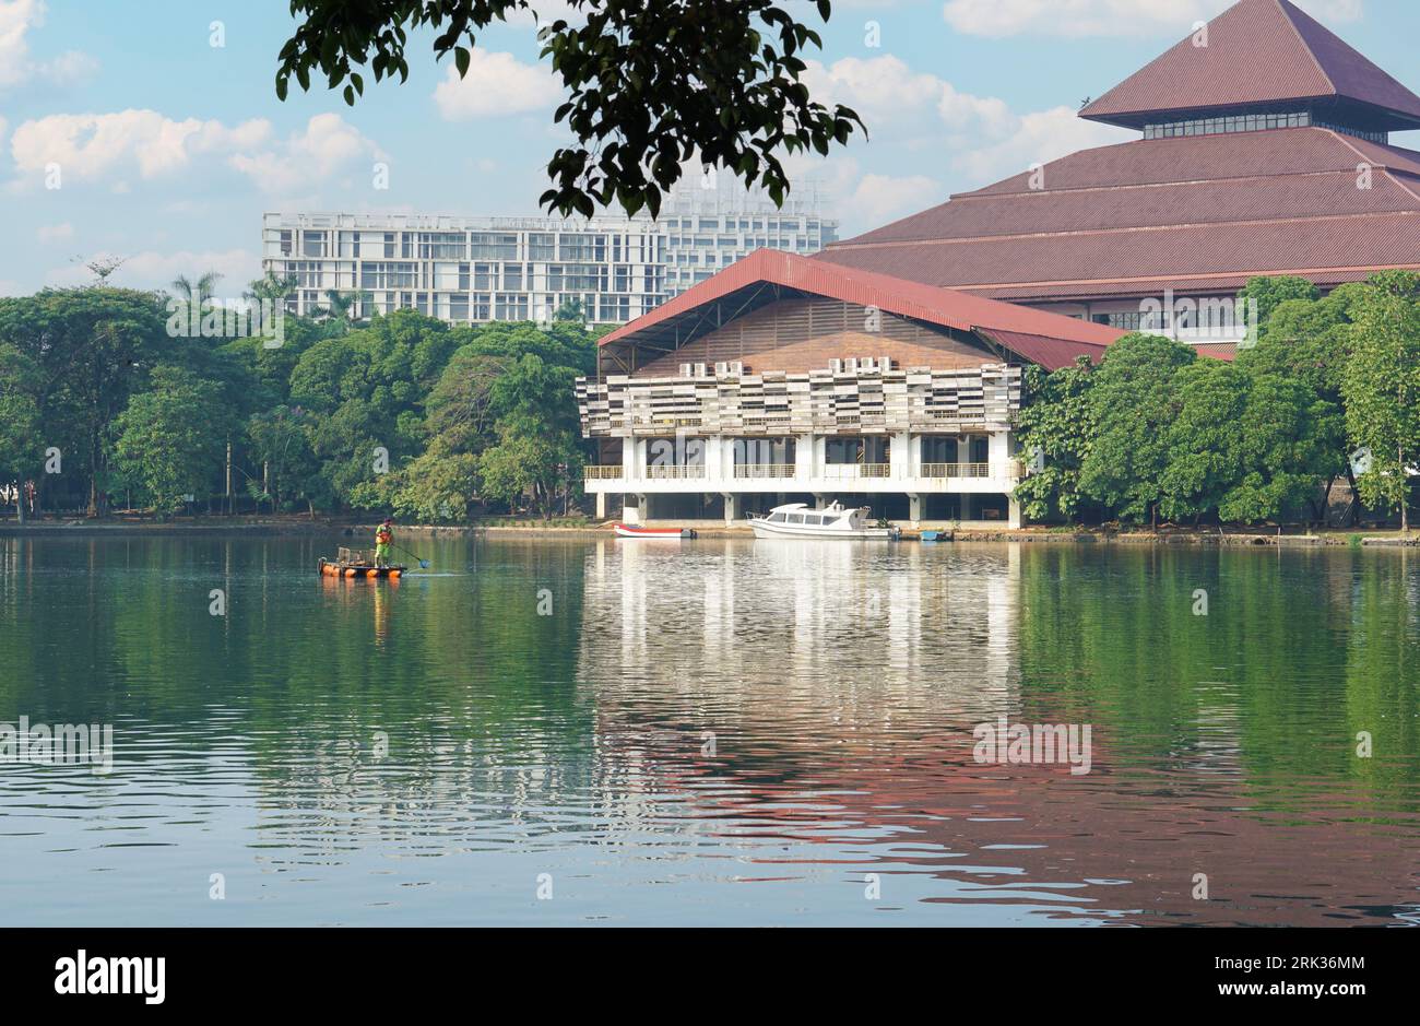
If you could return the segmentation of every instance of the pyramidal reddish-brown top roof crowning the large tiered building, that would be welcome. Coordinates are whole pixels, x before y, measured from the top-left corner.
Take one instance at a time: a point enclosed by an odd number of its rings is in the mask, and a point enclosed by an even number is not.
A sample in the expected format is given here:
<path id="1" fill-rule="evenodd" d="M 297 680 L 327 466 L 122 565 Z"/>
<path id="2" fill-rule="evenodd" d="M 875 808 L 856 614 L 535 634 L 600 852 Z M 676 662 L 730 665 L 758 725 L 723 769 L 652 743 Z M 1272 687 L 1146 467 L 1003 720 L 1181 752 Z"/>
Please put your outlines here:
<path id="1" fill-rule="evenodd" d="M 1420 126 L 1420 97 L 1289 0 L 1241 0 L 1081 111 L 1126 128 L 1166 115 L 1312 107 L 1373 131 Z"/>

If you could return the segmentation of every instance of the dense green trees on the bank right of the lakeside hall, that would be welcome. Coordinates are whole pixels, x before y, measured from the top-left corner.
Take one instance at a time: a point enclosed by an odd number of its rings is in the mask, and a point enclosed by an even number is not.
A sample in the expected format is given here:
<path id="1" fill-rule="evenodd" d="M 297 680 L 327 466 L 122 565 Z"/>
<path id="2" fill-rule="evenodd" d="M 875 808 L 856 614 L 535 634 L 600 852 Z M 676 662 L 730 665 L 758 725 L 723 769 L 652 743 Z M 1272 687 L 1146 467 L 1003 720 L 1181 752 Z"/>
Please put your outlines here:
<path id="1" fill-rule="evenodd" d="M 1017 489 L 1028 517 L 1326 523 L 1345 477 L 1409 527 L 1420 277 L 1386 271 L 1325 297 L 1302 279 L 1255 279 L 1240 300 L 1257 301 L 1260 328 L 1231 362 L 1132 334 L 1098 365 L 1028 371 L 1020 438 L 1044 453 Z"/>

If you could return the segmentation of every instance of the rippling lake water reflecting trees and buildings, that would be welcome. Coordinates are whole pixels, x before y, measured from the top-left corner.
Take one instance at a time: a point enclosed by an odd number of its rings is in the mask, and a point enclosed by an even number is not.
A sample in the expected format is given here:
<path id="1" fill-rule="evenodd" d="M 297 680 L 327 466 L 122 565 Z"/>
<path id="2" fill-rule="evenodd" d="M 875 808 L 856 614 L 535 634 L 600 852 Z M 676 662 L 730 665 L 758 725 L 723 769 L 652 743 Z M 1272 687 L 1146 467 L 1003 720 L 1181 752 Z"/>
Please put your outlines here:
<path id="1" fill-rule="evenodd" d="M 0 539 L 7 922 L 1420 922 L 1414 554 L 400 541 Z"/>

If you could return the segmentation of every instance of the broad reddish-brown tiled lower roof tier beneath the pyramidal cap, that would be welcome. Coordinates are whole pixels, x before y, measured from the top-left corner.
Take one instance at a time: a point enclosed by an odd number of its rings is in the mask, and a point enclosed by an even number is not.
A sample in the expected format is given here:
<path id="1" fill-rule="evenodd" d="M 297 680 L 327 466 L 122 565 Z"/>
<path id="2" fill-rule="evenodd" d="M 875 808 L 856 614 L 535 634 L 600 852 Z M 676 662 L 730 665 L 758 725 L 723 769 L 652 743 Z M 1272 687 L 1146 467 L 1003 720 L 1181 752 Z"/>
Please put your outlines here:
<path id="1" fill-rule="evenodd" d="M 1369 186 L 1358 188 L 1358 165 Z M 1322 128 L 1139 139 L 831 244 L 815 259 L 990 296 L 1230 293 L 1420 264 L 1420 153 Z"/>

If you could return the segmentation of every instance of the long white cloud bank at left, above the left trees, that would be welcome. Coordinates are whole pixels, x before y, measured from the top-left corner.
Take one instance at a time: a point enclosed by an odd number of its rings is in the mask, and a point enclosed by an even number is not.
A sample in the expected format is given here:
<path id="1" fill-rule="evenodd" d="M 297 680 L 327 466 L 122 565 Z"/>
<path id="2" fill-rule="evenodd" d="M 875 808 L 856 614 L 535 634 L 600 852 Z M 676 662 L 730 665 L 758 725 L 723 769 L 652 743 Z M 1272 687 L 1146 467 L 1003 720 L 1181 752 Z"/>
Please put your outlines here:
<path id="1" fill-rule="evenodd" d="M 128 192 L 128 176 L 172 176 L 200 162 L 224 162 L 264 192 L 322 182 L 379 148 L 337 114 L 318 114 L 287 139 L 274 139 L 271 122 L 173 121 L 158 111 L 54 114 L 26 121 L 10 141 L 18 182 L 34 185 L 57 163 L 64 185 L 105 182 Z"/>

